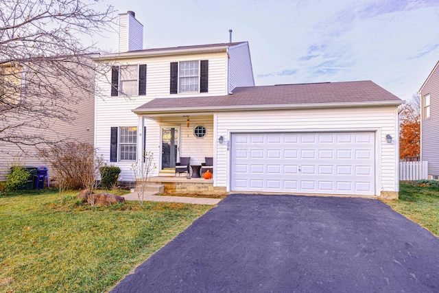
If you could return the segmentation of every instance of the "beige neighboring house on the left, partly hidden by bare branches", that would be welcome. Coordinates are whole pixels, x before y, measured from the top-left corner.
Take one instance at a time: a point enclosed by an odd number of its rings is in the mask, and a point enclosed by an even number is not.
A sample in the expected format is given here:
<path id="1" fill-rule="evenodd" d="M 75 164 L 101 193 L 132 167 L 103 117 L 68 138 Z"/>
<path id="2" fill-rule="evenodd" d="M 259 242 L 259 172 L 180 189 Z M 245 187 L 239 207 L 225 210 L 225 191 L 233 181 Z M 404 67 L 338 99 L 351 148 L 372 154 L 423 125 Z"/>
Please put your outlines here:
<path id="1" fill-rule="evenodd" d="M 93 144 L 95 106 L 93 90 L 84 93 L 78 90 L 77 86 L 69 84 L 62 78 L 53 80 L 58 91 L 69 93 L 66 97 L 75 95 L 75 97 L 80 98 L 80 101 L 78 103 L 62 102 L 60 99 L 56 101 L 56 104 L 62 106 L 64 110 L 75 112 L 77 119 L 74 121 L 62 121 L 63 117 L 61 119 L 59 117 L 58 119 L 51 118 L 51 115 L 59 115 L 59 113 L 51 113 L 49 99 L 43 97 L 43 94 L 36 97 L 34 89 L 27 91 L 29 84 L 32 84 L 32 76 L 34 76 L 27 69 L 30 64 L 29 61 L 3 62 L 0 64 L 0 95 L 2 102 L 8 99 L 8 101 L 12 101 L 12 104 L 16 103 L 17 106 L 23 104 L 24 107 L 31 108 L 28 105 L 33 105 L 32 110 L 27 111 L 20 110 L 20 108 L 5 110 L 5 104 L 0 105 L 0 108 L 3 107 L 0 109 L 3 111 L 0 121 L 2 137 L 9 137 L 12 141 L 21 140 L 19 141 L 21 143 L 0 140 L 0 181 L 5 180 L 5 175 L 10 172 L 9 168 L 12 163 L 34 167 L 48 165 L 38 156 L 34 143 L 38 147 L 44 147 L 45 141 L 54 142 L 70 139 Z M 47 66 L 49 67 L 49 65 Z M 84 73 L 88 74 L 88 71 L 84 69 Z M 93 71 L 89 71 L 91 79 L 93 79 L 93 74 Z M 35 84 L 38 84 L 38 82 L 35 82 Z M 93 86 L 94 84 L 92 84 Z M 71 89 L 76 89 L 75 93 L 71 93 Z M 49 167 L 49 174 L 53 175 L 54 173 L 51 171 Z"/>

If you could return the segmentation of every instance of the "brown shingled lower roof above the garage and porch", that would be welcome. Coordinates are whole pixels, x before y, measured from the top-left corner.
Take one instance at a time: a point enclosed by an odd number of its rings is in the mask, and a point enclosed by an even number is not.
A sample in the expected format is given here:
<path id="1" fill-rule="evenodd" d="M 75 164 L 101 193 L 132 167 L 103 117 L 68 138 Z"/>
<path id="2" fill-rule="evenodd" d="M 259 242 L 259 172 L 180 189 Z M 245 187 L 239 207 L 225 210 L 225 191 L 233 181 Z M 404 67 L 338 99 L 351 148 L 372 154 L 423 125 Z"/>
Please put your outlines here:
<path id="1" fill-rule="evenodd" d="M 256 108 L 312 108 L 353 104 L 403 104 L 403 101 L 370 80 L 316 84 L 278 84 L 238 87 L 233 94 L 214 97 L 157 98 L 134 113 L 184 112 L 185 110 L 244 110 Z"/>

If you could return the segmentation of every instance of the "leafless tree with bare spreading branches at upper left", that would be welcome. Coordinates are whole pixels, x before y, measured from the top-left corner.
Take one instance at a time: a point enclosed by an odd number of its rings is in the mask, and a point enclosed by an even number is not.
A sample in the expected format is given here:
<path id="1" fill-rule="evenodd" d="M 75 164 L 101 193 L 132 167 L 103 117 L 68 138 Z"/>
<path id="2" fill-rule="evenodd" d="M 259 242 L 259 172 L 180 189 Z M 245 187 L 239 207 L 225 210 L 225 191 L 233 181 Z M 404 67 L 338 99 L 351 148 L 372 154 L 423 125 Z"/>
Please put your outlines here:
<path id="1" fill-rule="evenodd" d="M 95 95 L 95 44 L 111 30 L 115 10 L 100 0 L 2 0 L 0 10 L 0 145 L 56 143 L 44 135 L 73 121 L 71 105 Z M 0 148 L 1 150 L 1 148 Z"/>

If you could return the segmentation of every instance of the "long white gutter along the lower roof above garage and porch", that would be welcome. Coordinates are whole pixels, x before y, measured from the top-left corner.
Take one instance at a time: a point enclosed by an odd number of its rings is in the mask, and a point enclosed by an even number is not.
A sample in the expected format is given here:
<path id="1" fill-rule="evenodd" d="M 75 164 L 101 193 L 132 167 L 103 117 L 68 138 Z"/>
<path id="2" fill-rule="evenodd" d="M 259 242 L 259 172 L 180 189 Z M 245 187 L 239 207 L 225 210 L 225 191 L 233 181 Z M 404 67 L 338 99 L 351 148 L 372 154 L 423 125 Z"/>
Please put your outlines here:
<path id="1" fill-rule="evenodd" d="M 137 108 L 132 110 L 136 114 L 165 114 L 165 113 L 206 113 L 206 112 L 230 112 L 245 110 L 285 110 L 304 108 L 361 108 L 370 106 L 398 106 L 404 101 L 381 101 L 381 102 L 346 102 L 346 103 L 316 103 L 316 104 L 276 104 L 276 105 L 239 105 L 239 106 L 209 106 L 209 107 L 184 107 L 184 108 Z"/>

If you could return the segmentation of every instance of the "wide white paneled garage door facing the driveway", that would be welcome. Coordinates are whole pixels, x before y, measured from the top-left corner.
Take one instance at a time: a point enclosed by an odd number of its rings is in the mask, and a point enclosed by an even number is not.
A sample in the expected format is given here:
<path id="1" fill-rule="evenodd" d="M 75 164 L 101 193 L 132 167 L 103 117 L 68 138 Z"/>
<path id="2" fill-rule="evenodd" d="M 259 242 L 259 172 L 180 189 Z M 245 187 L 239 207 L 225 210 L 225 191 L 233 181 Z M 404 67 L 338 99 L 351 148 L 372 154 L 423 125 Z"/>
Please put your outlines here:
<path id="1" fill-rule="evenodd" d="M 239 133 L 232 191 L 375 195 L 374 132 Z"/>

